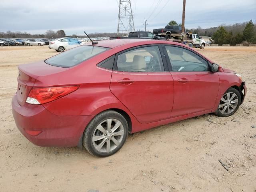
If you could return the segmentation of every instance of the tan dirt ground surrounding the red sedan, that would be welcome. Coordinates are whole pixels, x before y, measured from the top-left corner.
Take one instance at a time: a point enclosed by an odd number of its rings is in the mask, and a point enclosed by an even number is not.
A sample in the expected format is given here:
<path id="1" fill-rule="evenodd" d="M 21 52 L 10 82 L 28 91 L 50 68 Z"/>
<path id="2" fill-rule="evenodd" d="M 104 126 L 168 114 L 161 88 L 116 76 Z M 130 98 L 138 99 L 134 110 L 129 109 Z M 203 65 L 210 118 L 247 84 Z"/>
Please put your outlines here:
<path id="1" fill-rule="evenodd" d="M 11 110 L 17 66 L 57 52 L 0 47 L 0 191 L 255 192 L 256 47 L 199 51 L 246 80 L 248 93 L 236 114 L 208 114 L 132 134 L 118 153 L 96 158 L 78 148 L 38 147 L 22 136 Z"/>

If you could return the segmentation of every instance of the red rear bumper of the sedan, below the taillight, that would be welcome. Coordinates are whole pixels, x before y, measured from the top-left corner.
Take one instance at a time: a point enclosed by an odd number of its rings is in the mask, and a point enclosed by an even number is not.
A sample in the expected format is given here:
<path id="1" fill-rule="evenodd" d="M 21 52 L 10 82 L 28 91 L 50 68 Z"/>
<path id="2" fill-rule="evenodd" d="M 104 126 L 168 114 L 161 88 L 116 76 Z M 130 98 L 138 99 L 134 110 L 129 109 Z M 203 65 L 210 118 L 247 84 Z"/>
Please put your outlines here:
<path id="1" fill-rule="evenodd" d="M 42 105 L 20 106 L 12 98 L 12 114 L 17 128 L 33 144 L 49 147 L 78 146 L 87 124 L 94 116 L 56 116 Z"/>

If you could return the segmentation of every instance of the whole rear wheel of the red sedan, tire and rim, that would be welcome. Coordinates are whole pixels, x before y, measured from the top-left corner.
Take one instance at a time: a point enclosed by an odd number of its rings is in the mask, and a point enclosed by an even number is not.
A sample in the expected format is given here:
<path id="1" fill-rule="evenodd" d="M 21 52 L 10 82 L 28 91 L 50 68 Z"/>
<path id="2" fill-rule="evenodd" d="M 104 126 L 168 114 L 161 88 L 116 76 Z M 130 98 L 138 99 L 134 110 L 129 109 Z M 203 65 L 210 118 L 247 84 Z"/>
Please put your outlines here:
<path id="1" fill-rule="evenodd" d="M 116 129 L 113 130 L 114 128 Z M 107 110 L 95 116 L 88 124 L 84 131 L 83 146 L 94 156 L 107 157 L 122 148 L 127 136 L 128 124 L 124 116 L 116 111 Z"/>

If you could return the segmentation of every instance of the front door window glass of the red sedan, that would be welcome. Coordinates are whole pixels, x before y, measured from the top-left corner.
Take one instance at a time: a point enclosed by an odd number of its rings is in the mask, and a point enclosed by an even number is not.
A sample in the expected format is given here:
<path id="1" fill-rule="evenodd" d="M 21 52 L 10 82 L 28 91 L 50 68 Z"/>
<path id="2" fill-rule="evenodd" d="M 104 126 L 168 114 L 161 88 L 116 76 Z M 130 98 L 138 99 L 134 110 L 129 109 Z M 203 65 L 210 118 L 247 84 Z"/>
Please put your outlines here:
<path id="1" fill-rule="evenodd" d="M 173 71 L 208 71 L 208 62 L 194 52 L 165 46 Z"/>

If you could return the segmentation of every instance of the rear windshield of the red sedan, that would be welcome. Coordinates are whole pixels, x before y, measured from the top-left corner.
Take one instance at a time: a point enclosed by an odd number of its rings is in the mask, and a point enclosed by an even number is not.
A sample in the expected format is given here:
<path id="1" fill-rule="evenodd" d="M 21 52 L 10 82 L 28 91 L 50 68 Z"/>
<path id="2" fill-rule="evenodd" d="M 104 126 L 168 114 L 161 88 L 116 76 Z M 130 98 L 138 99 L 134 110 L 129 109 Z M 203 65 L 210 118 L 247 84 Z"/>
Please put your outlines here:
<path id="1" fill-rule="evenodd" d="M 44 62 L 49 65 L 68 68 L 80 64 L 81 62 L 109 49 L 110 48 L 106 47 L 82 45 L 48 58 Z"/>

